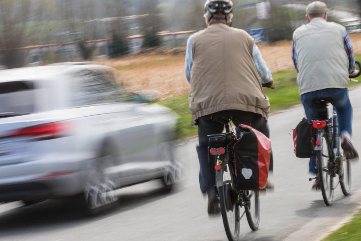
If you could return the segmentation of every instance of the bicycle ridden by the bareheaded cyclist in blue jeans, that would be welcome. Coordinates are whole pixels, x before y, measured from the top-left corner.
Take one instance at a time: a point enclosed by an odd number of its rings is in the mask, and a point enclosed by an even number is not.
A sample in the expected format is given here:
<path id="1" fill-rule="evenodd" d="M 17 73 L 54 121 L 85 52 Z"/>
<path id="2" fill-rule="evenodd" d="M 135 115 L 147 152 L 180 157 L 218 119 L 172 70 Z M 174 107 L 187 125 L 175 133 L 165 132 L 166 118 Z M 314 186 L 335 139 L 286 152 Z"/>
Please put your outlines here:
<path id="1" fill-rule="evenodd" d="M 356 61 L 360 68 L 360 63 Z M 360 76 L 359 73 L 357 76 Z M 355 77 L 357 77 L 355 76 Z M 318 176 L 310 178 L 312 181 L 319 178 L 323 201 L 327 206 L 332 205 L 334 190 L 340 184 L 345 196 L 351 193 L 351 165 L 341 148 L 341 137 L 338 128 L 337 112 L 332 112 L 329 118 L 327 106 L 332 103 L 331 98 L 317 98 L 314 103 L 320 105 L 320 120 L 313 120 L 314 129 L 314 157 Z M 339 182 L 334 186 L 334 178 L 339 176 Z"/>

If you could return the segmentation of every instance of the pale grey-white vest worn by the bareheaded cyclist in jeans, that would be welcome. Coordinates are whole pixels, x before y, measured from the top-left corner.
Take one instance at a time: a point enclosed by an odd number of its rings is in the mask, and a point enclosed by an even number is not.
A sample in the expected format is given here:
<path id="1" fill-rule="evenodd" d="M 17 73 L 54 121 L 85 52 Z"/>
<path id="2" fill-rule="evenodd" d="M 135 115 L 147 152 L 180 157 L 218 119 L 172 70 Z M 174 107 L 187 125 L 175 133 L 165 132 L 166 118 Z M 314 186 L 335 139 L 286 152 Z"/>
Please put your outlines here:
<path id="1" fill-rule="evenodd" d="M 314 18 L 293 33 L 299 69 L 300 94 L 349 85 L 348 57 L 344 47 L 345 27 Z"/>

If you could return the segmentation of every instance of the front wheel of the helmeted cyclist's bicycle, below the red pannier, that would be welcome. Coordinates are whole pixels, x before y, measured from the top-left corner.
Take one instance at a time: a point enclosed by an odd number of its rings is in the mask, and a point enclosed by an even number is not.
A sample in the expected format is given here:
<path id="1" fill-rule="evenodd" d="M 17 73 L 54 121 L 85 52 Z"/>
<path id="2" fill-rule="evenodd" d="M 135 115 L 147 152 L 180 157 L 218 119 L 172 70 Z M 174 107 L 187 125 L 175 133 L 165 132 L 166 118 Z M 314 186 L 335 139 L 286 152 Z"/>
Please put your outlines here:
<path id="1" fill-rule="evenodd" d="M 244 191 L 244 194 L 247 195 L 247 203 L 244 206 L 246 210 L 246 216 L 249 227 L 256 231 L 260 225 L 260 191 Z M 252 203 L 252 198 L 254 197 L 254 203 Z M 255 213 L 252 214 L 251 208 L 255 206 Z"/>

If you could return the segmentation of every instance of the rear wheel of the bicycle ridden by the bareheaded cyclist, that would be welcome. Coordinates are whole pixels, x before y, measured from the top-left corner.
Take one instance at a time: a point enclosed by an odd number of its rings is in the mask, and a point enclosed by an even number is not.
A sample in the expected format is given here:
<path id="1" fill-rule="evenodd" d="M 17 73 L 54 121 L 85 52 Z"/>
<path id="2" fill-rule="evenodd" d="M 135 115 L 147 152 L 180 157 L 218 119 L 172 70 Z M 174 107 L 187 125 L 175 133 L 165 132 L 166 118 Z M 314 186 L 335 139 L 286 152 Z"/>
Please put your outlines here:
<path id="1" fill-rule="evenodd" d="M 322 150 L 316 151 L 316 156 L 323 201 L 327 206 L 330 206 L 334 200 L 334 178 L 329 173 L 330 155 L 325 134 L 322 137 Z"/>

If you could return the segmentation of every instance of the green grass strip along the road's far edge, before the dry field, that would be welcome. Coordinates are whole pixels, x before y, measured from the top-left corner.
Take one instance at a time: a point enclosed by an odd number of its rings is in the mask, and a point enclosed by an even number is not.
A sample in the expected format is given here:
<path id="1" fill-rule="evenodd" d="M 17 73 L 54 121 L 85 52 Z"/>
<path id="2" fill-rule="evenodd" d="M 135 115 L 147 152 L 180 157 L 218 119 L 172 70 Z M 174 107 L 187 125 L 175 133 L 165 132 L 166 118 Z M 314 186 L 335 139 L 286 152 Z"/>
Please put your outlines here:
<path id="1" fill-rule="evenodd" d="M 361 55 L 356 59 L 361 60 Z M 297 73 L 295 70 L 283 70 L 272 74 L 275 89 L 264 88 L 265 94 L 270 99 L 271 111 L 285 109 L 300 104 L 300 94 L 296 83 Z M 361 77 L 357 78 L 361 81 Z M 351 82 L 350 87 L 357 85 Z M 177 138 L 197 135 L 197 126 L 191 126 L 191 112 L 189 109 L 188 96 L 177 96 L 157 102 L 173 109 L 180 116 L 177 125 Z"/>

